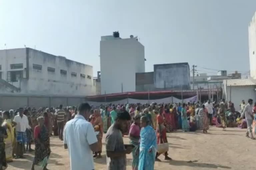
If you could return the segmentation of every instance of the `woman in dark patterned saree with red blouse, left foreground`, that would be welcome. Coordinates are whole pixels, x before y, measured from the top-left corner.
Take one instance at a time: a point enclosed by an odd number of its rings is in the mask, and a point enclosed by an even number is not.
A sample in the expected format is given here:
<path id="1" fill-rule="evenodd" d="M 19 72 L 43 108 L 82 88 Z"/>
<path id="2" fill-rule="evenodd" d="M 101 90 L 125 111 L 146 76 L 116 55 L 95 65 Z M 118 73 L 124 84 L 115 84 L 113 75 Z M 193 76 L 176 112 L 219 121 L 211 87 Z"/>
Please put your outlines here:
<path id="1" fill-rule="evenodd" d="M 39 122 L 39 125 L 37 125 L 34 129 L 35 157 L 31 170 L 35 170 L 35 165 L 41 166 L 43 170 L 48 170 L 46 166 L 51 153 L 50 137 L 47 128 L 44 125 L 44 117 L 38 117 L 37 121 Z"/>

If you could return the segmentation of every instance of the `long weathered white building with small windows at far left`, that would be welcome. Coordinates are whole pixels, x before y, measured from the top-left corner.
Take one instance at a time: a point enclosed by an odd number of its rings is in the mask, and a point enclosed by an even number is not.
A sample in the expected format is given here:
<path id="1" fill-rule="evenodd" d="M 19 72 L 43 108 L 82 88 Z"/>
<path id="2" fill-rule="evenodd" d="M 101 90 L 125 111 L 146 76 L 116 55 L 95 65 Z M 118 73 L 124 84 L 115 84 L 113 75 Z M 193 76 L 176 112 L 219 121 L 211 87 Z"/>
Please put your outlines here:
<path id="1" fill-rule="evenodd" d="M 0 78 L 24 94 L 95 95 L 92 66 L 31 48 L 0 50 Z"/>

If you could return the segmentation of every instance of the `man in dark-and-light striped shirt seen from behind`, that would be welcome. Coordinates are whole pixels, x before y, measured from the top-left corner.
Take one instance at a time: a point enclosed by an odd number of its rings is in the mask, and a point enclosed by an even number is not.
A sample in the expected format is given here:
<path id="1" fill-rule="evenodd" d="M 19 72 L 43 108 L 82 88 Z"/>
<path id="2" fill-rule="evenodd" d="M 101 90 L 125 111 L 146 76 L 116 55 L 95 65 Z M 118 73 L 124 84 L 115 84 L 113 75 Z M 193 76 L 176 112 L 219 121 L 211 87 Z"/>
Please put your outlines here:
<path id="1" fill-rule="evenodd" d="M 59 109 L 56 111 L 55 115 L 57 115 L 57 124 L 58 124 L 58 134 L 60 140 L 63 140 L 63 128 L 66 112 L 63 110 L 63 105 L 59 105 Z"/>

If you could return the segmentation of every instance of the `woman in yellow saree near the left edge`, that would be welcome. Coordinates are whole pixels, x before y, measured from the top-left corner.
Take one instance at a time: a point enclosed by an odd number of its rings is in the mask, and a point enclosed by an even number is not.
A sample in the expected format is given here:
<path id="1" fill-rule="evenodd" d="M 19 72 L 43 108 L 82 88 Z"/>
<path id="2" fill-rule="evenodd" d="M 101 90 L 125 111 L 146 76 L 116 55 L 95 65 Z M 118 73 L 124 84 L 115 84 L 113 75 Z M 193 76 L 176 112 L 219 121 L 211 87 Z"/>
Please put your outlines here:
<path id="1" fill-rule="evenodd" d="M 15 122 L 11 120 L 10 113 L 8 111 L 4 111 L 3 113 L 3 127 L 6 128 L 7 131 L 7 138 L 4 139 L 5 142 L 5 154 L 6 154 L 6 161 L 12 162 L 13 158 L 13 145 L 14 145 L 14 127 L 17 125 Z"/>

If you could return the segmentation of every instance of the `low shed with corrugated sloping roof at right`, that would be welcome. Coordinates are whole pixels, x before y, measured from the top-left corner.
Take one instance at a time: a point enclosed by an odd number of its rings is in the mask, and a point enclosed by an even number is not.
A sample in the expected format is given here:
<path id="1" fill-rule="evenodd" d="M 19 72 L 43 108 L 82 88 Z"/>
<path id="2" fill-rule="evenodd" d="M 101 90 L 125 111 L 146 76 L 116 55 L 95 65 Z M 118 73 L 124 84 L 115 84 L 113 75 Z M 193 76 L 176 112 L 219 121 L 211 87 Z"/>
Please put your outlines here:
<path id="1" fill-rule="evenodd" d="M 247 103 L 248 99 L 256 101 L 256 81 L 253 79 L 229 79 L 223 80 L 222 97 L 226 101 L 234 103 L 236 111 L 240 111 L 242 100 Z M 231 93 L 230 93 L 231 91 Z"/>

